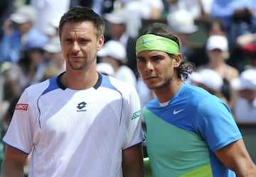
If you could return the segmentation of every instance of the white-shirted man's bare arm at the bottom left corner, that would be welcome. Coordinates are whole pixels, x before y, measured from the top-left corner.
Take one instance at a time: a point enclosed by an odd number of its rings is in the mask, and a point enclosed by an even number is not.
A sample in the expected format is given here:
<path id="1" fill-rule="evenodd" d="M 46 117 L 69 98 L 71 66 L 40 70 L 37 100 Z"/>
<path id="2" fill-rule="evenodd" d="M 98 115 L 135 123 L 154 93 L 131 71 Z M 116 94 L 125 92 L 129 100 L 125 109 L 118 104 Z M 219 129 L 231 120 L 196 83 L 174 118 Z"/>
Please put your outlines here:
<path id="1" fill-rule="evenodd" d="M 28 155 L 23 152 L 6 145 L 4 151 L 4 161 L 3 161 L 3 177 L 18 177 L 24 176 L 23 168 L 26 164 L 26 159 Z"/>

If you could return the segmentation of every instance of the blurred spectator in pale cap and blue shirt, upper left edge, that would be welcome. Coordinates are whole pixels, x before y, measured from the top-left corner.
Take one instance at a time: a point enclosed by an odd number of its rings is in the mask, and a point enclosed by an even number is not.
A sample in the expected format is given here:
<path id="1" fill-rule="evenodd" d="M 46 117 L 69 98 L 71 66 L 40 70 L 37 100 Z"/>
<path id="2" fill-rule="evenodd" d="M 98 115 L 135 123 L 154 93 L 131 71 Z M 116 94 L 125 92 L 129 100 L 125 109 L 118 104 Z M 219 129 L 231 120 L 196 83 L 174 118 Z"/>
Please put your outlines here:
<path id="1" fill-rule="evenodd" d="M 4 36 L 0 41 L 0 63 L 18 62 L 21 51 L 28 41 L 40 38 L 48 42 L 48 36 L 34 28 L 36 21 L 36 11 L 33 6 L 24 5 L 19 7 L 4 25 Z M 41 42 L 41 41 L 40 41 Z"/>

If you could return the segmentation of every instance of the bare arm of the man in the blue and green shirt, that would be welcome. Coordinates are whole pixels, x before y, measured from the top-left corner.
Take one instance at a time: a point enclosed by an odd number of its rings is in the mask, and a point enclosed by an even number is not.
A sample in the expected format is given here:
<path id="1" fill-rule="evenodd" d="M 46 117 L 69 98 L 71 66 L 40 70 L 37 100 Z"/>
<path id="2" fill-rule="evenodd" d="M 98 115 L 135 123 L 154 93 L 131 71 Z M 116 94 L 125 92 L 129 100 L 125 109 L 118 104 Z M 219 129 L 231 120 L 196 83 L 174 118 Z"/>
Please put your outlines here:
<path id="1" fill-rule="evenodd" d="M 228 144 L 216 151 L 215 154 L 228 169 L 235 171 L 237 177 L 255 176 L 256 166 L 250 158 L 242 139 Z"/>

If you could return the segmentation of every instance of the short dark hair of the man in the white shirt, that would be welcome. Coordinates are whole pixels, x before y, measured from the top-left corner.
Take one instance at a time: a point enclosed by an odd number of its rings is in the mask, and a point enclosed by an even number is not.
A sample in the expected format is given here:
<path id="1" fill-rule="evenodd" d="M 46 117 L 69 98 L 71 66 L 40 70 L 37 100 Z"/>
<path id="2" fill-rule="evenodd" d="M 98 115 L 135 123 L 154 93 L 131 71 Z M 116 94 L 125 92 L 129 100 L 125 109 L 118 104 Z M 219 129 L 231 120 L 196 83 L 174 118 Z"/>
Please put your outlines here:
<path id="1" fill-rule="evenodd" d="M 70 8 L 70 10 L 63 14 L 60 18 L 60 23 L 58 26 L 59 35 L 61 36 L 63 25 L 67 21 L 80 22 L 80 21 L 91 21 L 96 27 L 96 35 L 100 37 L 105 32 L 105 21 L 99 14 L 95 13 L 91 8 L 86 6 L 75 6 Z"/>

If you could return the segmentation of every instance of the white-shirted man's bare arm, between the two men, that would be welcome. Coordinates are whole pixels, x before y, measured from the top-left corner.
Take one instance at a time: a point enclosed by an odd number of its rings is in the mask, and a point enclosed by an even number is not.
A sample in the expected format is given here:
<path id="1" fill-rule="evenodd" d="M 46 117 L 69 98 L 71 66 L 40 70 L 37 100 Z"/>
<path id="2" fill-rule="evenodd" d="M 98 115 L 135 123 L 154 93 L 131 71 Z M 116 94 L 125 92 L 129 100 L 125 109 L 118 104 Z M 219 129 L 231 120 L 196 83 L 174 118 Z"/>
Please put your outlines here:
<path id="1" fill-rule="evenodd" d="M 142 143 L 130 147 L 122 152 L 122 168 L 124 177 L 144 176 Z"/>

